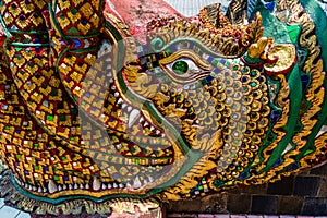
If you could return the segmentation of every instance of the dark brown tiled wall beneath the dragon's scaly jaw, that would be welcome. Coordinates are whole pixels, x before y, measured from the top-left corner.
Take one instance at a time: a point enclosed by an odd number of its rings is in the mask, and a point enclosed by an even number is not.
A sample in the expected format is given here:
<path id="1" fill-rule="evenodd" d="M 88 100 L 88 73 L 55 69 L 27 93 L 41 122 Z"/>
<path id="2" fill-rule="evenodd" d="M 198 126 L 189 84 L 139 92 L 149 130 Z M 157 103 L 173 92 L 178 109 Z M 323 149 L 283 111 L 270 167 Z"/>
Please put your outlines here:
<path id="1" fill-rule="evenodd" d="M 280 182 L 230 190 L 201 201 L 171 203 L 168 217 L 198 214 L 327 215 L 327 165 Z"/>

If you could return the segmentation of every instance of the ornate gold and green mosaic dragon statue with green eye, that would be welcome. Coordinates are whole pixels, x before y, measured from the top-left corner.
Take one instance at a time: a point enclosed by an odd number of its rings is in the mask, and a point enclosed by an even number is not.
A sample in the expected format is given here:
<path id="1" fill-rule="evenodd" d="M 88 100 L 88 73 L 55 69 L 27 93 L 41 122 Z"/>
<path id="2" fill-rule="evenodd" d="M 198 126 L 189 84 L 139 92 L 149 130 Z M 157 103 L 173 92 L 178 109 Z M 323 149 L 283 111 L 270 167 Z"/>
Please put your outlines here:
<path id="1" fill-rule="evenodd" d="M 324 164 L 320 4 L 185 17 L 161 0 L 0 0 L 1 195 L 40 215 L 110 213 Z"/>

